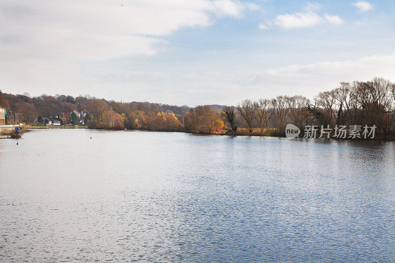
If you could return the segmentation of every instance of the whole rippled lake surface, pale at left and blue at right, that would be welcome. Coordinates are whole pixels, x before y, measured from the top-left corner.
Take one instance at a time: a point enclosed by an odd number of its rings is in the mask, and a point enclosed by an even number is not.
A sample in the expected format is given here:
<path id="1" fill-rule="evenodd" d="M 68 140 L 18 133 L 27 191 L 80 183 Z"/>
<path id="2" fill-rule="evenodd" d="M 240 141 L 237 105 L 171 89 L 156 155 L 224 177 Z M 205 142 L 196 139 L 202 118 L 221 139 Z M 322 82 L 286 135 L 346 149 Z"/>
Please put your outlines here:
<path id="1" fill-rule="evenodd" d="M 0 140 L 1 262 L 394 262 L 394 215 L 389 142 L 82 129 Z"/>

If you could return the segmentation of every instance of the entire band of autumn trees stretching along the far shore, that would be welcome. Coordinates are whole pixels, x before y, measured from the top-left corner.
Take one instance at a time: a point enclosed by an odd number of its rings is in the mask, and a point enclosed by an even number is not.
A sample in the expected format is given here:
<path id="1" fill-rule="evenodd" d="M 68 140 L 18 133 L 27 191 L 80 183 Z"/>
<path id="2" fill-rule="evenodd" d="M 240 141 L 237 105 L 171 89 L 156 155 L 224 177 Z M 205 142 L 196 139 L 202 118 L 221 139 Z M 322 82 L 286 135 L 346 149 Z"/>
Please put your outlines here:
<path id="1" fill-rule="evenodd" d="M 193 133 L 281 135 L 293 123 L 306 125 L 376 125 L 377 134 L 395 133 L 395 84 L 384 78 L 341 82 L 333 90 L 320 92 L 313 101 L 300 95 L 243 100 L 236 107 L 205 105 L 170 106 L 148 102 L 115 102 L 88 95 L 12 95 L 0 92 L 0 107 L 19 113 L 32 123 L 38 116 L 60 116 L 67 123 L 76 110 L 85 112 L 85 124 L 96 129 L 148 129 Z M 64 123 L 62 123 L 64 124 Z M 239 127 L 239 128 L 237 128 Z"/>

